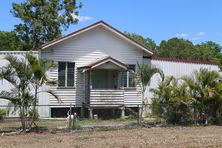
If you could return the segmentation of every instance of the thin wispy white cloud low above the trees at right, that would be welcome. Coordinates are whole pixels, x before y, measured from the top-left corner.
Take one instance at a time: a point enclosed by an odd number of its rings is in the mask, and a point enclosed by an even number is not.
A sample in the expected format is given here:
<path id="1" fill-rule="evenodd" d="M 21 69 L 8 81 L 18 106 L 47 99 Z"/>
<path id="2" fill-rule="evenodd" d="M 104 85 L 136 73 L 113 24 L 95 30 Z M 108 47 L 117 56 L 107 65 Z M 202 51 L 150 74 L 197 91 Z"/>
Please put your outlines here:
<path id="1" fill-rule="evenodd" d="M 201 37 L 203 37 L 205 35 L 206 35 L 206 33 L 201 31 L 201 32 L 198 32 L 197 34 L 193 34 L 193 35 L 190 35 L 187 33 L 177 33 L 176 37 L 186 39 L 186 40 L 196 41 L 196 40 L 200 40 Z"/>

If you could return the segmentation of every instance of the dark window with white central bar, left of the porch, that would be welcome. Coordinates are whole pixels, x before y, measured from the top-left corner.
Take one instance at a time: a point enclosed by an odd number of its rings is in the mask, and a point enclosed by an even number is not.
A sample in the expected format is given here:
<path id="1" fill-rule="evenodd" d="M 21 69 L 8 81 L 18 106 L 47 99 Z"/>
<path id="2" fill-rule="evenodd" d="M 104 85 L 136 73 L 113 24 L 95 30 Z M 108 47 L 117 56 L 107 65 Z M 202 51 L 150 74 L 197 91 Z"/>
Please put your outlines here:
<path id="1" fill-rule="evenodd" d="M 59 62 L 58 63 L 58 86 L 73 87 L 75 78 L 75 63 Z"/>

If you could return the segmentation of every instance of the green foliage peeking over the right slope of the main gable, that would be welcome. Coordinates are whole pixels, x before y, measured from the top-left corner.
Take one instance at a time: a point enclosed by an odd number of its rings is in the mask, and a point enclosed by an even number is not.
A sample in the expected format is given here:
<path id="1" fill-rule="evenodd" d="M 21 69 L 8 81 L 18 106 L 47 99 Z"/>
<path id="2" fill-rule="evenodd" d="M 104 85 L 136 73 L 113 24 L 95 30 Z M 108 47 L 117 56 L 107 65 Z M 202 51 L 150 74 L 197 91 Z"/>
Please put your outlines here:
<path id="1" fill-rule="evenodd" d="M 138 35 L 136 33 L 125 32 L 125 34 L 128 35 L 133 40 L 137 41 L 138 43 L 144 45 L 145 47 L 147 47 L 149 49 L 152 49 L 152 50 L 157 49 L 157 45 L 156 45 L 155 41 L 150 39 L 150 38 L 144 38 L 143 36 Z"/>

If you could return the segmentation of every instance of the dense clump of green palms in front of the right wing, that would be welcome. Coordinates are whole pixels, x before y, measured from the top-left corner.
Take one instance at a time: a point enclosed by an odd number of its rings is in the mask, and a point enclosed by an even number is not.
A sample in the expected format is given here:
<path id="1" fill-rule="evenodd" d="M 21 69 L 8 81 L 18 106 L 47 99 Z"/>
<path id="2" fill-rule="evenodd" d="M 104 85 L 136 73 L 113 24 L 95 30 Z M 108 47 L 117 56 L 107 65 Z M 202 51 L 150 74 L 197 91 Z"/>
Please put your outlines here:
<path id="1" fill-rule="evenodd" d="M 151 89 L 153 113 L 167 123 L 222 123 L 221 76 L 200 69 L 193 76 L 169 77 Z"/>

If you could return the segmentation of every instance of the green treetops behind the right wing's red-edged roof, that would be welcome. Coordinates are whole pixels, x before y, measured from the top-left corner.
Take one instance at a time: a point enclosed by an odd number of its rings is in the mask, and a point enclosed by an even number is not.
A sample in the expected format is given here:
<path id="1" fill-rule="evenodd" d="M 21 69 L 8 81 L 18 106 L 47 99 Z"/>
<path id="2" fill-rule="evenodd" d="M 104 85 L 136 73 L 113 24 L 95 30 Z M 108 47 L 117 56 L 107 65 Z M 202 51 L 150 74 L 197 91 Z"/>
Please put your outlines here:
<path id="1" fill-rule="evenodd" d="M 212 41 L 194 45 L 189 40 L 172 38 L 168 41 L 162 41 L 155 53 L 159 57 L 222 61 L 221 46 Z"/>

